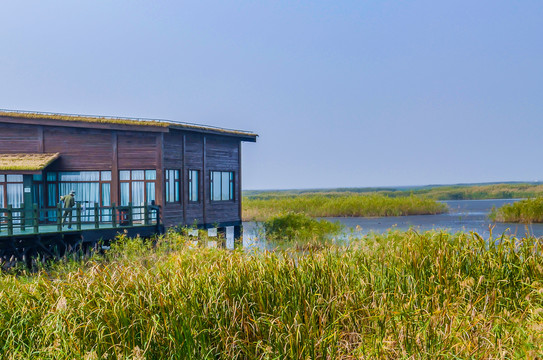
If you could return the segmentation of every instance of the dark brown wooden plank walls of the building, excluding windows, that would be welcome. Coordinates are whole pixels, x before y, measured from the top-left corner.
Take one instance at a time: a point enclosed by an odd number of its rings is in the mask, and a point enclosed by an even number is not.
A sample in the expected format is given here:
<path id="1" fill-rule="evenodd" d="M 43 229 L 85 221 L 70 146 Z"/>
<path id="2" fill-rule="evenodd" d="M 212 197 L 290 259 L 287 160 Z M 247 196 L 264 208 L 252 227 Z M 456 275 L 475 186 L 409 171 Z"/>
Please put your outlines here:
<path id="1" fill-rule="evenodd" d="M 112 171 L 111 201 L 120 202 L 120 170 L 156 170 L 156 203 L 162 206 L 166 226 L 211 226 L 241 223 L 241 137 L 190 130 L 128 131 L 53 126 L 29 121 L 3 122 L 0 117 L 0 153 L 60 153 L 51 171 Z M 165 170 L 179 170 L 180 201 L 165 203 Z M 198 202 L 188 201 L 190 170 L 199 171 Z M 210 172 L 233 171 L 234 200 L 211 201 Z"/>

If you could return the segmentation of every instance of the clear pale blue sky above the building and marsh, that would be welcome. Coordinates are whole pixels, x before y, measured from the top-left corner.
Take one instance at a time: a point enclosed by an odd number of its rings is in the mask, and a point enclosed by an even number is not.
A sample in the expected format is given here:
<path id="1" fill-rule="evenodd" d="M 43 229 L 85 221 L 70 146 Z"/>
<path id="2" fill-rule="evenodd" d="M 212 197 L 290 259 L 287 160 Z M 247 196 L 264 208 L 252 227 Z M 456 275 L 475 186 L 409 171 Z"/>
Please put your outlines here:
<path id="1" fill-rule="evenodd" d="M 252 130 L 245 189 L 542 180 L 543 1 L 4 1 L 0 108 Z"/>

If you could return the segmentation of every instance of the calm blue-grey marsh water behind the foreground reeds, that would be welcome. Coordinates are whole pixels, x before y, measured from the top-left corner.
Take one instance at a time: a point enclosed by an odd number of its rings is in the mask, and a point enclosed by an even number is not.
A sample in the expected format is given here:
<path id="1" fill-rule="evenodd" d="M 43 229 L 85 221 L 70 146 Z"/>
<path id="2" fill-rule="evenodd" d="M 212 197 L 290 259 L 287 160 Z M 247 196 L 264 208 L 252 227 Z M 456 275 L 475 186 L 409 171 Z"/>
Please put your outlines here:
<path id="1" fill-rule="evenodd" d="M 475 231 L 483 237 L 489 236 L 489 226 L 493 226 L 493 236 L 503 233 L 524 236 L 526 233 L 543 236 L 543 224 L 500 224 L 488 220 L 488 214 L 493 206 L 500 207 L 510 204 L 516 199 L 506 200 L 456 200 L 444 201 L 449 206 L 449 213 L 440 215 L 397 216 L 382 218 L 325 218 L 330 221 L 339 221 L 345 226 L 345 234 L 355 236 L 365 235 L 369 232 L 386 232 L 389 229 L 417 231 L 445 230 L 452 233 L 458 231 Z M 254 222 L 243 224 L 246 247 L 265 247 L 260 236 L 258 225 Z"/>

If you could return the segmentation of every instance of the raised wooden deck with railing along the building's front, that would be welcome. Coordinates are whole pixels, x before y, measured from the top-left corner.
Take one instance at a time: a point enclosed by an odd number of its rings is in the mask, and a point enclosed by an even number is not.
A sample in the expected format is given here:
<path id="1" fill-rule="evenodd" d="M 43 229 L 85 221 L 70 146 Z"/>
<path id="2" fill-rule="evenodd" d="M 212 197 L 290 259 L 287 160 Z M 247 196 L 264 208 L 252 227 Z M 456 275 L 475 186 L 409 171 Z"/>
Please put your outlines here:
<path id="1" fill-rule="evenodd" d="M 37 255 L 60 257 L 67 252 L 109 243 L 119 233 L 148 237 L 162 231 L 157 206 L 105 206 L 71 209 L 72 227 L 63 224 L 66 209 L 0 208 L 0 265 L 7 259 L 28 261 Z"/>

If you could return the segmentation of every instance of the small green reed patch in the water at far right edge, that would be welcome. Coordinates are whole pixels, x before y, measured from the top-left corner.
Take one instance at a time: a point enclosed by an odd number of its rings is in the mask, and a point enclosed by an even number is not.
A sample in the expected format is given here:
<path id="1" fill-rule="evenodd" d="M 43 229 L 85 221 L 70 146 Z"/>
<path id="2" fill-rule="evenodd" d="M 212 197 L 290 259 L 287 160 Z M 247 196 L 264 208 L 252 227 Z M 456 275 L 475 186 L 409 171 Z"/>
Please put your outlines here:
<path id="1" fill-rule="evenodd" d="M 543 197 L 505 204 L 498 209 L 492 209 L 489 217 L 498 222 L 541 223 L 543 222 Z"/>

